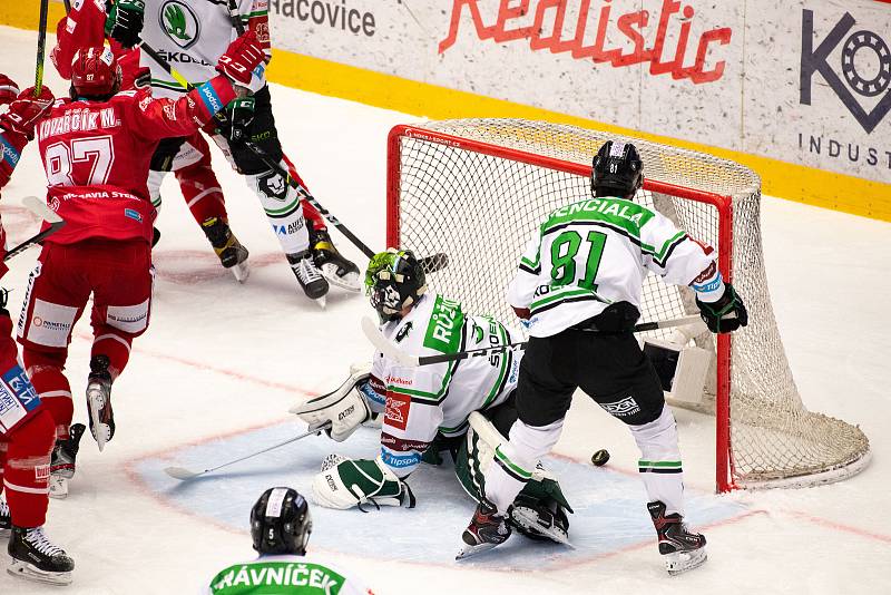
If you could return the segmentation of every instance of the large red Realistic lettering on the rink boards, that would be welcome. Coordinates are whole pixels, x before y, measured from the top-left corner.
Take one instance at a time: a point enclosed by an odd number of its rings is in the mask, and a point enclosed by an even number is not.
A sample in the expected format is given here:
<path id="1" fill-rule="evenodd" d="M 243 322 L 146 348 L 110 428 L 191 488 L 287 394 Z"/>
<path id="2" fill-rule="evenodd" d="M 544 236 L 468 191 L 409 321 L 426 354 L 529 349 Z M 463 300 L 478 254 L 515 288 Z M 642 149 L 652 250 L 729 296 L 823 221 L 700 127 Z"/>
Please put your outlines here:
<path id="1" fill-rule="evenodd" d="M 454 46 L 461 16 L 467 9 L 480 40 L 501 43 L 528 39 L 533 51 L 569 52 L 576 60 L 610 62 L 615 68 L 649 62 L 650 75 L 670 74 L 675 80 L 688 78 L 697 85 L 724 76 L 724 60 L 711 69 L 705 62 L 714 45 L 731 42 L 733 30 L 730 27 L 712 29 L 703 32 L 698 42 L 691 40 L 696 10 L 689 2 L 685 6 L 681 0 L 663 0 L 657 14 L 647 10 L 619 13 L 609 0 L 516 0 L 513 3 L 516 6 L 511 7 L 502 0 L 495 9 L 495 2 L 487 6 L 480 0 L 452 0 L 449 35 L 440 41 L 440 53 Z M 668 35 L 673 21 L 679 21 L 679 27 L 675 26 L 676 35 Z M 623 47 L 606 47 L 610 27 L 630 42 L 630 48 L 628 42 Z M 647 36 L 647 27 L 656 29 L 652 42 L 647 39 L 652 37 Z M 667 39 L 673 42 L 666 43 Z M 693 48 L 695 50 L 688 52 Z M 685 62 L 693 64 L 684 66 Z"/>

